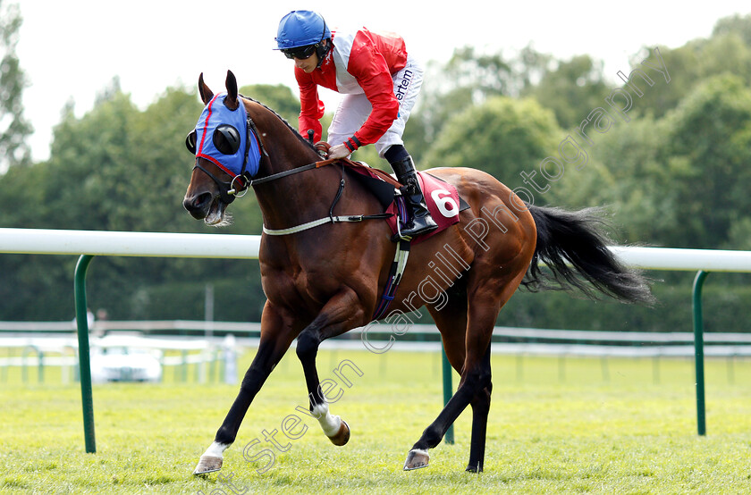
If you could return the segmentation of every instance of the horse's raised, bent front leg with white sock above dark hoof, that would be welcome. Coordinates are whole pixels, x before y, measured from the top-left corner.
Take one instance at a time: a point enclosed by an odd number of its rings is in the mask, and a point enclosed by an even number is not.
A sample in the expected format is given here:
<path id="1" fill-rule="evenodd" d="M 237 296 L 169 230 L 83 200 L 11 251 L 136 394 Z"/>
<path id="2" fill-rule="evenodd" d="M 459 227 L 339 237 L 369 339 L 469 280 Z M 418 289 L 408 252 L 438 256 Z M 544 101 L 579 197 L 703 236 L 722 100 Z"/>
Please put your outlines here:
<path id="1" fill-rule="evenodd" d="M 324 340 L 361 324 L 364 314 L 357 294 L 351 289 L 344 289 L 326 303 L 316 319 L 298 336 L 297 355 L 308 386 L 310 412 L 334 445 L 344 445 L 350 440 L 350 426 L 338 415 L 329 412 L 316 369 L 318 347 Z"/>

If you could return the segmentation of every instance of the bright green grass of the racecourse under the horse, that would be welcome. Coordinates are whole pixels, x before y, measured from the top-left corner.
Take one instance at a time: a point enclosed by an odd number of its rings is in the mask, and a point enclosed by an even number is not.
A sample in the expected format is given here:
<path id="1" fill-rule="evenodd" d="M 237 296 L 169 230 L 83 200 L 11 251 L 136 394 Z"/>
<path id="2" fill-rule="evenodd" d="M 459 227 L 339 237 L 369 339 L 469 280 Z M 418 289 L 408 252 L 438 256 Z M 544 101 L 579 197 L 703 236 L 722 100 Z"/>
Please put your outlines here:
<path id="1" fill-rule="evenodd" d="M 347 373 L 351 387 L 339 380 L 342 398 L 331 407 L 350 424 L 350 443 L 334 447 L 298 413 L 308 431 L 299 440 L 279 432 L 289 449 L 275 452 L 266 473 L 257 473 L 265 463 L 243 457 L 251 440 L 264 447 L 249 447 L 248 457 L 270 447 L 262 431 L 279 430 L 306 404 L 291 353 L 225 452 L 221 475 L 238 492 L 751 493 L 749 361 L 707 361 L 707 436 L 698 437 L 689 360 L 612 358 L 603 369 L 599 359 L 495 356 L 485 473 L 477 475 L 464 472 L 469 410 L 455 424 L 456 444 L 431 450 L 425 469 L 401 471 L 440 410 L 437 355 L 322 351 L 321 378 L 337 380 L 332 370 L 345 358 L 364 373 Z M 62 384 L 53 369 L 39 384 L 35 373 L 26 383 L 17 368 L 0 376 L 0 492 L 232 493 L 217 474 L 191 473 L 237 386 L 174 382 L 169 369 L 158 385 L 97 385 L 97 453 L 86 454 L 78 384 Z"/>

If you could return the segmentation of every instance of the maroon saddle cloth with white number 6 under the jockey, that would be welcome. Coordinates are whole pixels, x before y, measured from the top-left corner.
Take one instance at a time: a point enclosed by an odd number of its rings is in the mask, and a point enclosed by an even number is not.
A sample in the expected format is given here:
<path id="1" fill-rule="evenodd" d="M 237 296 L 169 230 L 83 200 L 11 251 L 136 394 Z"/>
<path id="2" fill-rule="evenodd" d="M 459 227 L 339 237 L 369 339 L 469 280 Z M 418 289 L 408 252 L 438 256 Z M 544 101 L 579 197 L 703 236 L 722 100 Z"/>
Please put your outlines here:
<path id="1" fill-rule="evenodd" d="M 356 166 L 352 166 L 351 164 L 348 169 L 352 172 L 357 172 L 357 175 L 365 179 L 363 183 L 367 189 L 373 191 L 375 197 L 378 197 L 381 204 L 384 205 L 385 213 L 392 214 L 391 217 L 386 219 L 386 222 L 391 227 L 392 234 L 397 235 L 399 232 L 397 222 L 400 219 L 401 222 L 409 221 L 409 208 L 405 207 L 404 199 L 397 193 L 397 189 L 401 187 L 401 184 L 386 172 L 372 168 L 367 164 L 357 162 L 354 163 Z M 444 182 L 427 172 L 418 172 L 418 180 L 420 188 L 423 191 L 423 196 L 425 197 L 427 210 L 430 212 L 435 223 L 438 224 L 438 228 L 435 231 L 427 232 L 416 239 L 412 239 L 412 244 L 418 244 L 423 240 L 429 239 L 454 223 L 459 222 L 460 211 L 469 207 L 460 198 L 456 188 L 448 182 Z"/>

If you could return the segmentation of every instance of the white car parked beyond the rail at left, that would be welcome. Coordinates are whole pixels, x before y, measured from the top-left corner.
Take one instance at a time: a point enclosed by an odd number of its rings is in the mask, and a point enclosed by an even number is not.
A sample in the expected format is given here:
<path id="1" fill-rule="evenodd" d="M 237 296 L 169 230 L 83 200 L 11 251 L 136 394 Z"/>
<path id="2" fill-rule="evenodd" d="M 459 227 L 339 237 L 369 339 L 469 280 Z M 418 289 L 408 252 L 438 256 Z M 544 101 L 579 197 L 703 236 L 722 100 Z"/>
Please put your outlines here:
<path id="1" fill-rule="evenodd" d="M 105 347 L 91 349 L 91 382 L 161 382 L 161 351 Z"/>

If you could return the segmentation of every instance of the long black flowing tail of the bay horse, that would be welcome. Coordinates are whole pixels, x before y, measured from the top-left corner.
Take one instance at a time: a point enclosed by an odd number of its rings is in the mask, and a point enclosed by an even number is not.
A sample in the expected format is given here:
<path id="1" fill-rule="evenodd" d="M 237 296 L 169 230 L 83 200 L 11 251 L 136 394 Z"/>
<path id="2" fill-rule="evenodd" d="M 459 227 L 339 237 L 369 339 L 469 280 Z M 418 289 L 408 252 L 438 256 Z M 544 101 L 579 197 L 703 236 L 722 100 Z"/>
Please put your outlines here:
<path id="1" fill-rule="evenodd" d="M 526 289 L 579 289 L 593 299 L 596 289 L 623 302 L 654 304 L 646 278 L 607 248 L 612 243 L 603 232 L 599 209 L 529 206 L 529 213 L 537 227 L 537 246 L 522 281 Z"/>

